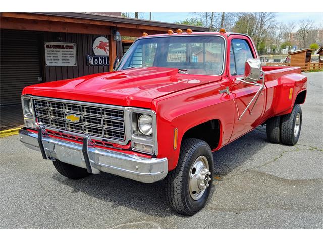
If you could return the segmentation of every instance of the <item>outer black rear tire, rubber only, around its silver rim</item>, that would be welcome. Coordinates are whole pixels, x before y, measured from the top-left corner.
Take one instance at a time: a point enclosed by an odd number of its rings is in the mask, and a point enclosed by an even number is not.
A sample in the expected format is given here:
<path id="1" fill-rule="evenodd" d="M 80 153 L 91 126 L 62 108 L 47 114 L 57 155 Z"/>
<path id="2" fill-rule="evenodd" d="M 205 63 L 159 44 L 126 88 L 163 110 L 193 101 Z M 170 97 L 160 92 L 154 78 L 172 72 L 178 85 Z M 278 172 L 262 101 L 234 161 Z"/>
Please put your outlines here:
<path id="1" fill-rule="evenodd" d="M 298 134 L 294 135 L 294 127 L 297 114 L 300 116 L 300 124 Z M 295 104 L 291 113 L 281 117 L 281 141 L 285 145 L 295 145 L 298 141 L 302 128 L 302 109 L 299 104 Z"/>

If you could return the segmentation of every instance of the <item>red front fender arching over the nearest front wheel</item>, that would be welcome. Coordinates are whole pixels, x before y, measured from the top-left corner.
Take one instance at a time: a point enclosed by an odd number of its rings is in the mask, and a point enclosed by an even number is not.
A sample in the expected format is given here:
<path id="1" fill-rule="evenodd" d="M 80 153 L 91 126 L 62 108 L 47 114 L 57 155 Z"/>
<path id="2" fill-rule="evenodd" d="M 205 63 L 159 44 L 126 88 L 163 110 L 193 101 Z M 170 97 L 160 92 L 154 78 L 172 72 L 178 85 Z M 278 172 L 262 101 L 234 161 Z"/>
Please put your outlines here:
<path id="1" fill-rule="evenodd" d="M 172 94 L 155 103 L 157 113 L 158 157 L 167 157 L 168 168 L 178 162 L 181 141 L 187 130 L 209 120 L 220 121 L 218 147 L 231 137 L 235 115 L 232 94 L 219 93 L 219 84 Z M 178 129 L 177 148 L 174 149 L 174 129 Z M 218 148 L 217 147 L 217 148 Z"/>

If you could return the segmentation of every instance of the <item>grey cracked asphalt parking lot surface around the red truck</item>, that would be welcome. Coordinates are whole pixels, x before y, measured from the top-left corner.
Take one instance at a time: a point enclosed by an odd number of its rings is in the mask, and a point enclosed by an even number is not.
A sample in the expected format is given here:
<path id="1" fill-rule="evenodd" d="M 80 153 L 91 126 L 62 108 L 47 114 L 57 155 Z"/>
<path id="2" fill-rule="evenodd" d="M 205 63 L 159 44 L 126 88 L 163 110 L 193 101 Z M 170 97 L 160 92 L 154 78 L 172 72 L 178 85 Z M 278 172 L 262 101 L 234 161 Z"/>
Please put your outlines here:
<path id="1" fill-rule="evenodd" d="M 0 138 L 0 228 L 323 228 L 323 73 L 307 73 L 295 146 L 270 144 L 258 127 L 214 153 L 209 202 L 173 212 L 164 183 L 110 174 L 69 180 L 18 135 Z"/>

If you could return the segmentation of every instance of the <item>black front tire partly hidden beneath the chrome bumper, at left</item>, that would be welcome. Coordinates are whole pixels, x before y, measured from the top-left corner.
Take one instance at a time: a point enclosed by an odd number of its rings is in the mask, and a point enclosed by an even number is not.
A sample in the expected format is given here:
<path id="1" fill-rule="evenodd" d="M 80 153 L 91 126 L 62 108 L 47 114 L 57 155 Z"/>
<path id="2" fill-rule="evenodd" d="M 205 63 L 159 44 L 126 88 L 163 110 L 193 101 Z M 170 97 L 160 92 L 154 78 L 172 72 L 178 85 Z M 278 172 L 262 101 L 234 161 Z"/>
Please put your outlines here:
<path id="1" fill-rule="evenodd" d="M 73 180 L 81 179 L 90 175 L 86 169 L 75 165 L 70 165 L 59 160 L 53 160 L 52 163 L 61 175 Z"/>

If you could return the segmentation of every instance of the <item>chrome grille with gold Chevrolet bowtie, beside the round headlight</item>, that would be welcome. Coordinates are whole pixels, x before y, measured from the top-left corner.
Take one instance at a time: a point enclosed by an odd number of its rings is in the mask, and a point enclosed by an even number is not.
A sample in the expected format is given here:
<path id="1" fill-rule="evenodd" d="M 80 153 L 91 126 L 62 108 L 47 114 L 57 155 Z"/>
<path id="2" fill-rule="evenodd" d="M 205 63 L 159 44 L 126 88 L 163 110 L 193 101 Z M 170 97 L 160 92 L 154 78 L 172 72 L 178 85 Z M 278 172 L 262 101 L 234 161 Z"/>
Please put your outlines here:
<path id="1" fill-rule="evenodd" d="M 34 108 L 38 123 L 47 127 L 117 141 L 126 138 L 123 110 L 37 99 Z"/>

